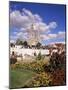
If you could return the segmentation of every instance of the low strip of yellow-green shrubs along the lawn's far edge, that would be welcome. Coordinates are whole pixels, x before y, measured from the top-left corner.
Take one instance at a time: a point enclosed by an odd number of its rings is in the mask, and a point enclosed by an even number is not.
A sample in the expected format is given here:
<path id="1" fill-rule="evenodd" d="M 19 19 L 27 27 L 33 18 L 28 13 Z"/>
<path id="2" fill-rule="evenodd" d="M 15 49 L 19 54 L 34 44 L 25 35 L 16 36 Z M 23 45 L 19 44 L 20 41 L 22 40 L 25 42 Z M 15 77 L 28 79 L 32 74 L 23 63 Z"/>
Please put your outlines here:
<path id="1" fill-rule="evenodd" d="M 46 64 L 47 63 L 44 60 L 34 61 L 34 62 L 31 62 L 31 63 L 23 62 L 23 63 L 16 63 L 15 68 L 31 70 L 31 71 L 35 71 L 35 72 L 39 73 L 39 72 L 44 71 L 43 65 L 46 65 Z"/>

